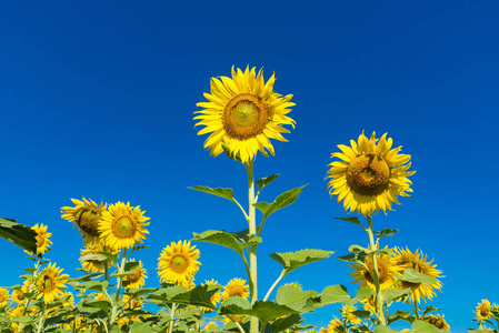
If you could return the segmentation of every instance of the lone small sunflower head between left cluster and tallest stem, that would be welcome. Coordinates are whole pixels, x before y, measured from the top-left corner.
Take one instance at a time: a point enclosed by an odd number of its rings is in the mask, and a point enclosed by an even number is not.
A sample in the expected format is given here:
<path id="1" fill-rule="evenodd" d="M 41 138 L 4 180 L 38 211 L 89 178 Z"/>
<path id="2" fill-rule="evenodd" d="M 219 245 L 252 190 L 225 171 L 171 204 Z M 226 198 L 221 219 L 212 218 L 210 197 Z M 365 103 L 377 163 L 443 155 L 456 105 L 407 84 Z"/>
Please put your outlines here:
<path id="1" fill-rule="evenodd" d="M 199 250 L 188 241 L 171 242 L 158 259 L 159 278 L 163 282 L 184 285 L 191 284 L 201 264 Z"/>

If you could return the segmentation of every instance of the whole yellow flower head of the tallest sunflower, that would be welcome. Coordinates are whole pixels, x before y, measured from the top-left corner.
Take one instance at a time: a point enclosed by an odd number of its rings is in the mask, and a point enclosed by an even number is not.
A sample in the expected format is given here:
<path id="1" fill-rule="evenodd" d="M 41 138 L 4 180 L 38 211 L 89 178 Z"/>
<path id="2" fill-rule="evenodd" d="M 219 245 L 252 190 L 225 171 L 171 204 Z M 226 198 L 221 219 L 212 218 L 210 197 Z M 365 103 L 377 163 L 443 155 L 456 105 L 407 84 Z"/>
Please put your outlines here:
<path id="1" fill-rule="evenodd" d="M 296 105 L 290 102 L 292 94 L 282 97 L 273 92 L 275 75 L 263 80 L 263 71 L 258 74 L 255 68 L 249 65 L 246 71 L 237 71 L 232 67 L 232 78 L 212 78 L 210 92 L 204 93 L 209 102 L 197 103 L 204 108 L 197 125 L 204 125 L 198 135 L 211 133 L 204 141 L 204 148 L 210 149 L 210 154 L 218 157 L 226 150 L 231 157 L 239 157 L 242 163 L 253 160 L 257 152 L 261 151 L 268 157 L 269 151 L 275 154 L 269 139 L 286 140 L 281 133 L 289 133 L 283 125 L 295 128 L 295 120 L 287 117 Z"/>

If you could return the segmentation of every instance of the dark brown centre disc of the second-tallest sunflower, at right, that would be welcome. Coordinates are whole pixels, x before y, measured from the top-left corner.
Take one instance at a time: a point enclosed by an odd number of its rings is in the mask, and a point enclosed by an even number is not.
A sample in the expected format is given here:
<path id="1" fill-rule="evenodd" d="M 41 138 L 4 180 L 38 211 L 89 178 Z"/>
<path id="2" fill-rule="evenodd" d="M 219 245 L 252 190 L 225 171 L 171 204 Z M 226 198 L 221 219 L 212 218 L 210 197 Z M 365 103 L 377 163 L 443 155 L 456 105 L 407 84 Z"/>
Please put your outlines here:
<path id="1" fill-rule="evenodd" d="M 361 154 L 347 169 L 347 183 L 359 194 L 376 195 L 385 191 L 390 180 L 390 168 L 377 154 Z"/>

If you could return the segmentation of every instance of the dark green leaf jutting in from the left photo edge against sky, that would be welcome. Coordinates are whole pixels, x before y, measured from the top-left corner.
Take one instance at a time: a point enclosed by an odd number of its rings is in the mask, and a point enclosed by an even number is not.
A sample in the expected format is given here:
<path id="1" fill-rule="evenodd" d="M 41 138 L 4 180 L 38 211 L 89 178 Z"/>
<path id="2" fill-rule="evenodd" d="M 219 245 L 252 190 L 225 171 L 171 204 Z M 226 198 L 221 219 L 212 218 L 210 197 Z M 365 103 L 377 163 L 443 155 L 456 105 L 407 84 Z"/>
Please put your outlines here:
<path id="1" fill-rule="evenodd" d="M 37 253 L 36 236 L 37 232 L 30 226 L 17 223 L 16 220 L 0 219 L 0 238 L 30 253 Z"/>

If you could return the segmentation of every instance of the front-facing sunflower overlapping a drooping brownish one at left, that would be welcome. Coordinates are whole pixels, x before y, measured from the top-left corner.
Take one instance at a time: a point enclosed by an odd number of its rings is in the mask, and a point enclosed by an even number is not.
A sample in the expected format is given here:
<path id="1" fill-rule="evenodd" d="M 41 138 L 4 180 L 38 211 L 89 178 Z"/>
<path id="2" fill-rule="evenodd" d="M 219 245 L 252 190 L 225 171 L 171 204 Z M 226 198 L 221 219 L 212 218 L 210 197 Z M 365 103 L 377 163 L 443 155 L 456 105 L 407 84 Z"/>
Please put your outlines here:
<path id="1" fill-rule="evenodd" d="M 106 244 L 119 251 L 123 248 L 132 248 L 134 243 L 142 243 L 146 234 L 149 233 L 144 229 L 149 225 L 146 221 L 150 220 L 143 213 L 140 205 L 132 208 L 130 202 L 124 204 L 118 201 L 116 204 L 110 204 L 109 209 L 102 213 L 102 221 L 99 224 L 99 231 Z"/>

